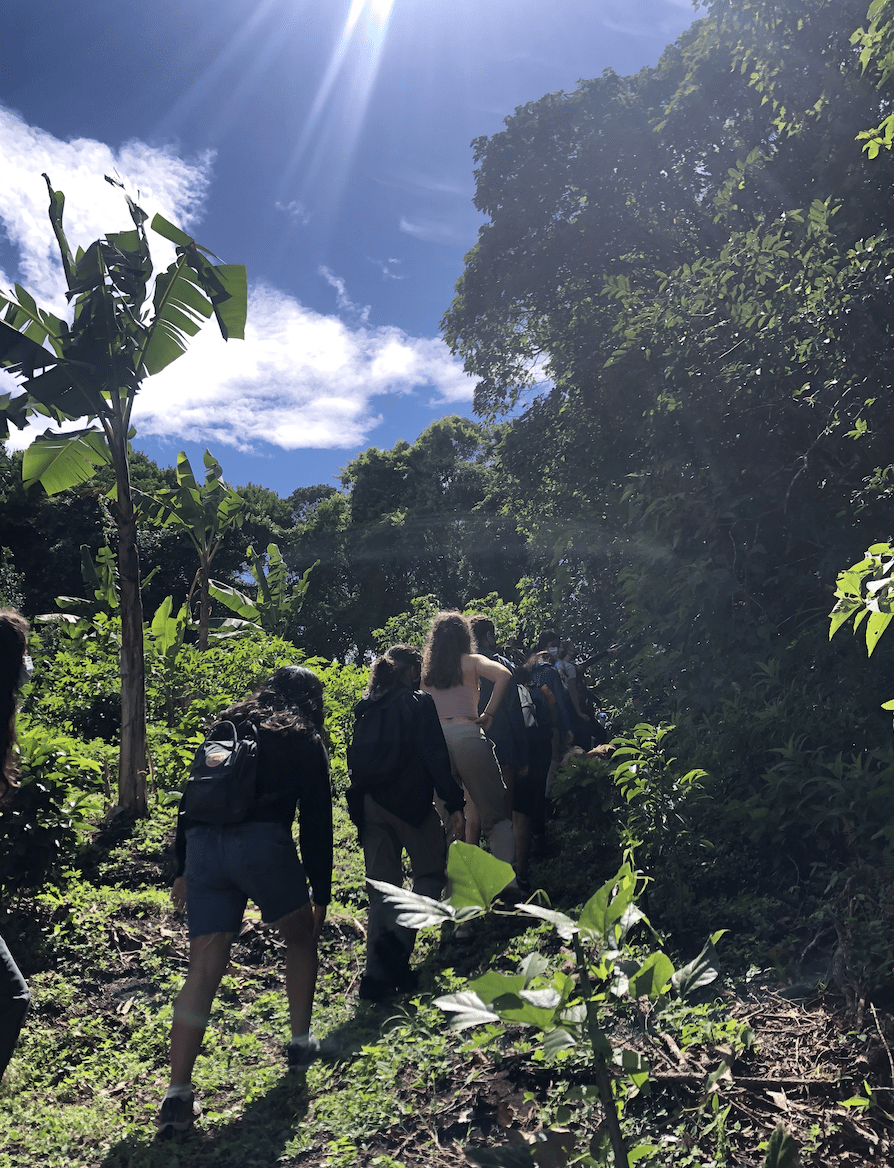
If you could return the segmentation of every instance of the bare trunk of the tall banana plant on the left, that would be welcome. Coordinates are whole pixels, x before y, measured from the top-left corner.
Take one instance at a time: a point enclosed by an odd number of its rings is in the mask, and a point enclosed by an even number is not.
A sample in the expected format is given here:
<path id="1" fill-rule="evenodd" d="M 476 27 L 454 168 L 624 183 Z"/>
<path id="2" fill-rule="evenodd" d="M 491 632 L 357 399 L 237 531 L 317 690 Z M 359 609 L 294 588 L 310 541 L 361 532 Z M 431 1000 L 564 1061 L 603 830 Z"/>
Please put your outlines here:
<path id="1" fill-rule="evenodd" d="M 126 449 L 115 451 L 118 499 L 118 585 L 122 598 L 122 744 L 118 805 L 146 815 L 146 670 L 143 656 L 143 599 L 137 555 L 137 520 L 131 498 Z"/>

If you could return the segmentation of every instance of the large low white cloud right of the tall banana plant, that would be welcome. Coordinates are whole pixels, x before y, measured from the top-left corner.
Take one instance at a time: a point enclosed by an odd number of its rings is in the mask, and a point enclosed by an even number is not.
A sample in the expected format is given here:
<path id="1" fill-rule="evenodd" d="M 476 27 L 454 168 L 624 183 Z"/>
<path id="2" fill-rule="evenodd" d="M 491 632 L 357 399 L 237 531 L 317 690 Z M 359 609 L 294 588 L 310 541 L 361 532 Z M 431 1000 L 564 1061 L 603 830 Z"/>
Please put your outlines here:
<path id="1" fill-rule="evenodd" d="M 133 413 L 139 433 L 243 450 L 356 446 L 381 422 L 382 394 L 430 387 L 439 402 L 472 397 L 443 341 L 351 327 L 273 287 L 252 290 L 245 336 L 224 345 L 210 328 L 200 333 L 146 382 Z"/>

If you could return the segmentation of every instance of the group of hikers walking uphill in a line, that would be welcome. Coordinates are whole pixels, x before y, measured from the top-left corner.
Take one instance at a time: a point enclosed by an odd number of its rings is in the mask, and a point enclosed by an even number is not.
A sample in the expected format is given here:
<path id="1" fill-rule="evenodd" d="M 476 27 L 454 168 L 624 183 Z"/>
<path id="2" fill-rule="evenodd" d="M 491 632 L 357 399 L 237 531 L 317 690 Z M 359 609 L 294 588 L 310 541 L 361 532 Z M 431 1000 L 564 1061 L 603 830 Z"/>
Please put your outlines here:
<path id="1" fill-rule="evenodd" d="M 26 621 L 0 611 L 4 793 L 14 781 L 15 701 L 27 663 Z M 306 1066 L 319 1052 L 310 1023 L 333 858 L 323 684 L 311 669 L 285 666 L 215 724 L 256 743 L 255 790 L 238 822 L 190 816 L 186 794 L 178 815 L 172 899 L 186 908 L 189 968 L 174 1002 L 161 1133 L 185 1131 L 200 1113 L 193 1066 L 249 899 L 285 944 L 289 1066 Z M 575 742 L 578 750 L 609 751 L 594 748 L 596 731 L 581 703 L 570 642 L 546 632 L 520 666 L 498 654 L 486 617 L 439 613 L 424 652 L 395 645 L 375 660 L 355 708 L 347 804 L 368 880 L 401 884 L 406 851 L 414 891 L 437 898 L 446 884 L 449 843 L 477 844 L 484 833 L 491 853 L 514 872 L 504 897 L 524 898 L 550 776 Z M 414 988 L 414 940 L 370 885 L 360 997 L 383 1001 Z M 1 1075 L 29 1000 L 1 939 L 0 976 Z"/>

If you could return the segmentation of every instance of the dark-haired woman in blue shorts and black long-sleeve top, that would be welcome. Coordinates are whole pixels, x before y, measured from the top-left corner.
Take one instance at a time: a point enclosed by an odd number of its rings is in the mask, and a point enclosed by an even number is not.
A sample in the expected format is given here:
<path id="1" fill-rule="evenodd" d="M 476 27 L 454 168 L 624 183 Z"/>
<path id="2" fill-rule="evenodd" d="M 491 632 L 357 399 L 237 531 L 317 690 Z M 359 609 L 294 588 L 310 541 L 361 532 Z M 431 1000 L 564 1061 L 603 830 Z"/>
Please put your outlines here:
<path id="1" fill-rule="evenodd" d="M 224 710 L 209 735 L 222 742 L 235 726 L 240 743 L 257 742 L 255 798 L 242 820 L 221 822 L 227 806 L 203 811 L 202 820 L 190 819 L 186 812 L 192 778 L 186 785 L 171 895 L 175 908 L 186 903 L 189 969 L 174 1002 L 171 1085 L 158 1117 L 162 1134 L 185 1131 L 201 1113 L 190 1082 L 193 1064 L 249 898 L 285 941 L 289 1066 L 306 1066 L 319 1052 L 310 1029 L 311 1007 L 317 943 L 332 882 L 332 795 L 323 719 L 323 683 L 317 674 L 304 666 L 283 666 L 248 698 Z M 296 808 L 300 861 L 292 840 Z"/>

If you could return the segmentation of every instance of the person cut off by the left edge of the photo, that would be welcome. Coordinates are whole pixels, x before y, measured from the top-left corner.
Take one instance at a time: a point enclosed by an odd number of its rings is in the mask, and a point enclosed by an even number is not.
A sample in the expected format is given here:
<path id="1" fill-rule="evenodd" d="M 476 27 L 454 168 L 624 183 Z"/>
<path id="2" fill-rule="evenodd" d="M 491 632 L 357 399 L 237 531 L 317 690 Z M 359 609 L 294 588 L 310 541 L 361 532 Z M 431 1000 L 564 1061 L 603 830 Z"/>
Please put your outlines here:
<path id="1" fill-rule="evenodd" d="M 15 714 L 18 691 L 28 681 L 28 621 L 14 609 L 0 609 L 0 802 L 15 784 Z M 0 937 L 0 1079 L 4 1077 L 28 1013 L 32 995 L 13 955 Z"/>

